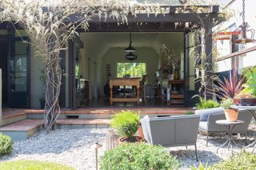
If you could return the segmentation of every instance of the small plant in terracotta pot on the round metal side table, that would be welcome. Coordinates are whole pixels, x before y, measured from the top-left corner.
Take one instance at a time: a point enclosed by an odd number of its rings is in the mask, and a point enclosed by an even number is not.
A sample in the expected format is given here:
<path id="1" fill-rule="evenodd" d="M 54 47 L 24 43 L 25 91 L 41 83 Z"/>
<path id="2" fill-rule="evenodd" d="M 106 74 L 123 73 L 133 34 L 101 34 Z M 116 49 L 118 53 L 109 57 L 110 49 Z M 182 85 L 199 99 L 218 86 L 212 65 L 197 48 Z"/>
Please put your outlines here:
<path id="1" fill-rule="evenodd" d="M 223 99 L 221 103 L 221 107 L 224 110 L 226 121 L 237 121 L 238 120 L 238 109 L 231 109 L 230 105 L 234 105 L 234 100 L 229 99 Z"/>

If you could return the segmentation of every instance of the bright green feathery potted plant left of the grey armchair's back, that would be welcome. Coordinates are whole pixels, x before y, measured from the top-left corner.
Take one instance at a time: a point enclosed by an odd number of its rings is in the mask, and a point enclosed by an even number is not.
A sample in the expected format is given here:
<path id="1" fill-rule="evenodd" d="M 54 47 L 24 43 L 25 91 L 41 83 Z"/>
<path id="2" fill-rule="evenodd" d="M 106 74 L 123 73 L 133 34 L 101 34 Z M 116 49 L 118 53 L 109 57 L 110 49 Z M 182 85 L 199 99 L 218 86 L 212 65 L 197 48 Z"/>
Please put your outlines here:
<path id="1" fill-rule="evenodd" d="M 120 142 L 136 142 L 142 140 L 141 136 L 134 136 L 139 126 L 139 113 L 131 110 L 122 110 L 111 118 L 110 126 L 115 128 L 121 136 Z"/>

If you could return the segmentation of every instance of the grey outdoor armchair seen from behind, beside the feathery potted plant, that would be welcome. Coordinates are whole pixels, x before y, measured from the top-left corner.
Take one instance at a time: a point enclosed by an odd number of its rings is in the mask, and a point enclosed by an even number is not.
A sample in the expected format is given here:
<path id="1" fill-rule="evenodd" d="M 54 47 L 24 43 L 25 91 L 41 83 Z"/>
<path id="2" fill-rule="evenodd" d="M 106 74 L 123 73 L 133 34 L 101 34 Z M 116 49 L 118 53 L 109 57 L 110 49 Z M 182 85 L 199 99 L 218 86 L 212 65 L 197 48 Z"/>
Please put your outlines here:
<path id="1" fill-rule="evenodd" d="M 150 144 L 160 144 L 164 147 L 194 145 L 197 155 L 198 115 L 174 117 L 148 117 L 141 119 L 145 140 Z"/>

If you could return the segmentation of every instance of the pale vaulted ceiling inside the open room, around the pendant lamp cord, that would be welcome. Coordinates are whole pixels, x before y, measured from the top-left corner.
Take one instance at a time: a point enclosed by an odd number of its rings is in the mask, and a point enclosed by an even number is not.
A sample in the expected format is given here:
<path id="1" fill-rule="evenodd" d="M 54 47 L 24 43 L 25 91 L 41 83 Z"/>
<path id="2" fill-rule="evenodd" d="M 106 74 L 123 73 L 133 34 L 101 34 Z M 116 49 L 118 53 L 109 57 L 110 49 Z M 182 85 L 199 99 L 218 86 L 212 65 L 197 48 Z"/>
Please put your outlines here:
<path id="1" fill-rule="evenodd" d="M 166 32 L 166 33 L 150 33 L 150 32 L 134 32 L 131 33 L 132 45 L 135 49 L 152 48 L 156 53 L 160 53 L 158 44 L 167 44 L 176 46 L 182 41 L 183 33 L 181 32 Z M 115 32 L 115 33 L 81 33 L 80 38 L 85 44 L 86 56 L 102 58 L 110 48 L 128 47 L 130 43 L 130 32 Z"/>

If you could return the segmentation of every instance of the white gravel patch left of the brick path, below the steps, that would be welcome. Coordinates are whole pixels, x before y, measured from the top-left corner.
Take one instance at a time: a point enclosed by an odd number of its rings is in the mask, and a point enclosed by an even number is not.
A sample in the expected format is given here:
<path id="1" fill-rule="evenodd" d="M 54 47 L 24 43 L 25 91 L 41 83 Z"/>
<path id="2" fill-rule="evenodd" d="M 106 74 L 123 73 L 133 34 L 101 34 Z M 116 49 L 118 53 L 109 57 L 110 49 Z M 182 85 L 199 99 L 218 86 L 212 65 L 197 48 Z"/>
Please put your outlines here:
<path id="1" fill-rule="evenodd" d="M 1 160 L 42 160 L 58 162 L 76 169 L 95 169 L 95 149 L 98 141 L 104 144 L 109 128 L 57 129 L 49 134 L 37 132 L 28 140 L 14 142 L 14 152 Z M 98 156 L 104 147 L 98 149 Z"/>

